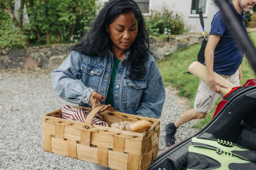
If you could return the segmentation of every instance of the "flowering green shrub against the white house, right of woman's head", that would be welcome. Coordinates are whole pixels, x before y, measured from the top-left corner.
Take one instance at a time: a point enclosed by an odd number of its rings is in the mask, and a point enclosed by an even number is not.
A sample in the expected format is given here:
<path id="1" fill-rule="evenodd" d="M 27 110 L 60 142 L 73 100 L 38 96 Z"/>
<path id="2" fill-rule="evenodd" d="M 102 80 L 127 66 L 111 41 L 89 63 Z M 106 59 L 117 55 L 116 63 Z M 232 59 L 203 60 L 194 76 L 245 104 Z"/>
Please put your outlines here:
<path id="1" fill-rule="evenodd" d="M 163 8 L 162 11 L 152 10 L 151 15 L 145 17 L 145 24 L 150 36 L 164 34 L 164 28 L 170 30 L 171 34 L 186 32 L 182 16 L 173 11 L 168 11 L 166 8 Z"/>

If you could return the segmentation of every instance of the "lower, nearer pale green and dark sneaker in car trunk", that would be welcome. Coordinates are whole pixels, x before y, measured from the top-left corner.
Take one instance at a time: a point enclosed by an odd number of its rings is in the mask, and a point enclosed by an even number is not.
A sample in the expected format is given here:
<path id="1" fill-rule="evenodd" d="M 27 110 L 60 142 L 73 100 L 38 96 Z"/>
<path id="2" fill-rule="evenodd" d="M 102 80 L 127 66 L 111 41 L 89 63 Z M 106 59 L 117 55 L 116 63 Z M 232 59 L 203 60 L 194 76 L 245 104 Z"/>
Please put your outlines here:
<path id="1" fill-rule="evenodd" d="M 187 170 L 194 169 L 256 169 L 256 164 L 220 148 L 191 145 L 188 147 Z"/>

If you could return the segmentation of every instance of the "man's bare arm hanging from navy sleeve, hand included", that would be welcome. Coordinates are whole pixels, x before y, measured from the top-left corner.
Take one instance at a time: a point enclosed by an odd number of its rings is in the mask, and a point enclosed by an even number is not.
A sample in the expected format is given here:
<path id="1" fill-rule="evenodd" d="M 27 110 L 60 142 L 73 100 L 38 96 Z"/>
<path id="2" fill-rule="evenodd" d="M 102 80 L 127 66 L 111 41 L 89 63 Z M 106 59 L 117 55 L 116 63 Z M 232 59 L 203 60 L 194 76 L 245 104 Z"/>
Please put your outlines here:
<path id="1" fill-rule="evenodd" d="M 204 53 L 209 87 L 213 92 L 218 92 L 218 93 L 220 93 L 220 87 L 226 87 L 225 85 L 221 85 L 220 83 L 217 83 L 215 81 L 215 77 L 213 74 L 214 50 L 219 41 L 220 41 L 220 35 L 218 34 L 210 35 L 207 45 L 205 47 L 205 53 Z"/>

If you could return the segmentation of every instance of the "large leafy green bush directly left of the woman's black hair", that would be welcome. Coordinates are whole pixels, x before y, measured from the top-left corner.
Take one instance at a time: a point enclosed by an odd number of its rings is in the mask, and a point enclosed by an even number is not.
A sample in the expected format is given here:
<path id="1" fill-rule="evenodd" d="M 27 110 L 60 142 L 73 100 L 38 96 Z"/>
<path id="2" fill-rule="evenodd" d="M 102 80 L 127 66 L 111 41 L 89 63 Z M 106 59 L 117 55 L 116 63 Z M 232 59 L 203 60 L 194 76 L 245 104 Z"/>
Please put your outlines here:
<path id="1" fill-rule="evenodd" d="M 26 7 L 29 27 L 25 30 L 31 42 L 49 45 L 81 39 L 90 28 L 99 4 L 95 0 L 34 0 Z"/>

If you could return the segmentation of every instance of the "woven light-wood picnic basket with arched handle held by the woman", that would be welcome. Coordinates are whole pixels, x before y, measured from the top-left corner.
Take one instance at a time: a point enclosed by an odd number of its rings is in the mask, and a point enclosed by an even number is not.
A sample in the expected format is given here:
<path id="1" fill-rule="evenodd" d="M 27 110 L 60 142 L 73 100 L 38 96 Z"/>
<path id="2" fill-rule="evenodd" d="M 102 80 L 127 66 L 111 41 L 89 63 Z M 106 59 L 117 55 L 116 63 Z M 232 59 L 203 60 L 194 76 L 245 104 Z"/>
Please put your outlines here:
<path id="1" fill-rule="evenodd" d="M 152 122 L 152 126 L 147 131 L 138 133 L 92 125 L 93 117 L 102 107 L 104 106 L 97 106 L 93 110 L 86 108 L 92 111 L 84 123 L 63 119 L 60 109 L 43 115 L 43 149 L 112 169 L 147 169 L 156 158 L 159 148 L 159 120 L 117 111 L 103 111 L 100 114 L 109 125 L 148 120 Z"/>

